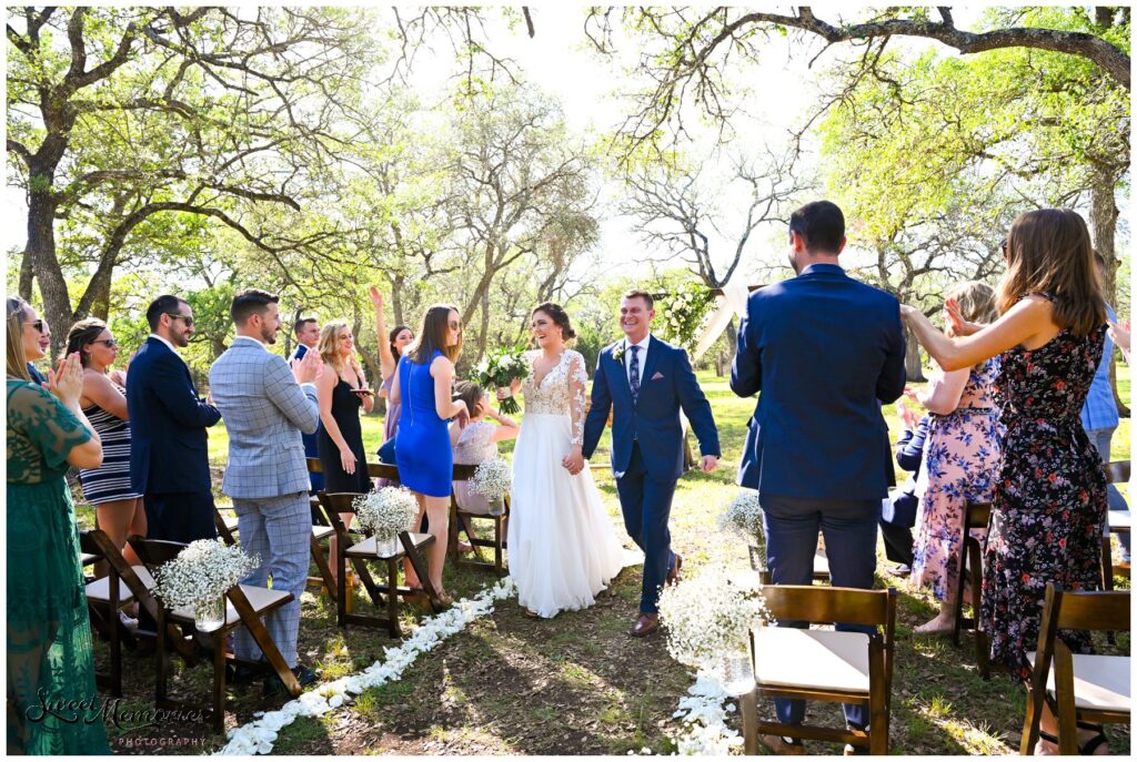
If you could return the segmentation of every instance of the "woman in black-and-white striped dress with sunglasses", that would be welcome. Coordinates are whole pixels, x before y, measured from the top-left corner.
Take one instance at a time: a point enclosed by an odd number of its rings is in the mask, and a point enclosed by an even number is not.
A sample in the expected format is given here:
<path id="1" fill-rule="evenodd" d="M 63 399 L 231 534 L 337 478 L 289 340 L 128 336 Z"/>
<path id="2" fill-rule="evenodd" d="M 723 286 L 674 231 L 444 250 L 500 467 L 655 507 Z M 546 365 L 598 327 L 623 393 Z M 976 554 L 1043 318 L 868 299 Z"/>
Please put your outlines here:
<path id="1" fill-rule="evenodd" d="M 142 495 L 131 491 L 131 425 L 126 412 L 125 378 L 107 375 L 118 355 L 118 344 L 102 320 L 80 320 L 67 334 L 67 353 L 78 352 L 83 362 L 80 407 L 102 438 L 102 466 L 81 469 L 83 499 L 94 505 L 99 528 L 128 563 L 140 563 L 126 545 L 130 535 L 146 536 Z"/>

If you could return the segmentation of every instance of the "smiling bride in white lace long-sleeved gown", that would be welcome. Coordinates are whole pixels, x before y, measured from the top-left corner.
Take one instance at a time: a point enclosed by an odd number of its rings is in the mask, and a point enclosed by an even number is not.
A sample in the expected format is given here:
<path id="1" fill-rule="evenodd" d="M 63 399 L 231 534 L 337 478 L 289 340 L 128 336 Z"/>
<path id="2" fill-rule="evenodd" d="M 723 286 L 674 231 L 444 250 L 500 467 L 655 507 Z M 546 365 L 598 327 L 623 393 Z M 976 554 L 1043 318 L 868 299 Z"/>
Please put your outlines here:
<path id="1" fill-rule="evenodd" d="M 576 336 L 559 304 L 530 316 L 539 347 L 528 352 L 525 416 L 513 454 L 509 573 L 531 617 L 586 609 L 624 567 L 625 551 L 600 503 L 581 447 L 584 441 L 584 358 L 565 347 Z"/>

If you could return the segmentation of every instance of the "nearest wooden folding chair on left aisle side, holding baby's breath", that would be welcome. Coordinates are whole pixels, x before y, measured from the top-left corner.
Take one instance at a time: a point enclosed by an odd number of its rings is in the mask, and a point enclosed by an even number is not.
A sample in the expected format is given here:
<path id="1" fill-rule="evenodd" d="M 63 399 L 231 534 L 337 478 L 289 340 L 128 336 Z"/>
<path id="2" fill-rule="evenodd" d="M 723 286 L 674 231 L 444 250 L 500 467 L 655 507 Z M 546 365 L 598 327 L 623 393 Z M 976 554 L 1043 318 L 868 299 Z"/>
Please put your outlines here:
<path id="1" fill-rule="evenodd" d="M 163 539 L 146 539 L 138 535 L 132 535 L 127 542 L 139 559 L 152 573 L 158 567 L 173 560 L 185 547 L 183 543 L 172 543 Z M 276 642 L 273 640 L 268 630 L 262 621 L 263 617 L 272 613 L 280 606 L 293 600 L 291 593 L 273 591 L 267 587 L 254 587 L 251 585 L 235 585 L 226 594 L 225 623 L 206 634 L 213 644 L 214 680 L 213 680 L 213 729 L 214 732 L 225 730 L 225 664 L 227 661 L 238 663 L 235 655 L 225 650 L 225 636 L 238 626 L 243 625 L 249 629 L 252 639 L 260 647 L 262 653 L 268 661 L 269 667 L 280 677 L 284 687 L 292 696 L 300 695 L 300 684 L 296 675 L 289 668 Z M 155 705 L 158 709 L 190 707 L 189 704 L 175 702 L 166 696 L 167 679 L 169 672 L 168 659 L 166 655 L 165 638 L 166 625 L 173 622 L 196 627 L 194 612 L 189 609 L 171 610 L 165 604 L 158 606 L 158 648 L 156 661 L 156 688 Z M 200 633 L 200 630 L 198 630 Z M 242 662 L 251 667 L 260 668 L 260 662 Z M 196 706 L 194 706 L 196 707 Z"/>

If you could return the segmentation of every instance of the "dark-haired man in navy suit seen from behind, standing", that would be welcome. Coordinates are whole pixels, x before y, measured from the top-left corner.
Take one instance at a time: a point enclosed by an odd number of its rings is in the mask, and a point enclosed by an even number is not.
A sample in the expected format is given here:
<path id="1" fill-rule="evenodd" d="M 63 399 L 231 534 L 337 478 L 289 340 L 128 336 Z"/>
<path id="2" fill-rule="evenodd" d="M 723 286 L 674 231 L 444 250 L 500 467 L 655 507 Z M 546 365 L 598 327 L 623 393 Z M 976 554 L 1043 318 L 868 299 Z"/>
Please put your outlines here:
<path id="1" fill-rule="evenodd" d="M 795 211 L 789 242 L 797 277 L 755 292 L 738 330 L 730 387 L 739 396 L 762 393 L 739 484 L 760 491 L 775 585 L 811 584 L 820 530 L 832 584 L 871 588 L 881 501 L 895 482 L 880 403 L 904 391 L 899 302 L 837 263 L 845 248 L 837 204 Z M 804 719 L 805 702 L 775 705 L 781 722 Z M 862 729 L 868 721 L 852 704 L 845 718 Z M 763 744 L 802 753 L 800 742 L 777 736 Z"/>

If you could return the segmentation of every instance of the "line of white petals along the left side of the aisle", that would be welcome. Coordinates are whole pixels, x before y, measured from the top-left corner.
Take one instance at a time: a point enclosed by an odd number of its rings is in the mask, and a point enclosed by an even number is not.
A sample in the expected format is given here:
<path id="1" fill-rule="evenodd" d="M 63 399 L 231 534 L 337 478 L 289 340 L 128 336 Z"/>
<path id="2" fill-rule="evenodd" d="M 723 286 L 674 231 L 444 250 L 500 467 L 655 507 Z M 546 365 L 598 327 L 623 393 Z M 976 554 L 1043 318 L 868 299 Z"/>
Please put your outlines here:
<path id="1" fill-rule="evenodd" d="M 299 717 L 323 717 L 352 701 L 368 688 L 395 683 L 420 655 L 433 651 L 466 625 L 493 612 L 497 601 L 516 595 L 513 579 L 506 577 L 473 600 L 462 598 L 454 606 L 431 617 L 416 627 L 410 637 L 398 647 L 384 648 L 384 659 L 357 672 L 326 683 L 301 694 L 279 710 L 258 713 L 258 719 L 229 731 L 229 743 L 216 755 L 268 754 L 273 751 L 276 734 Z"/>

